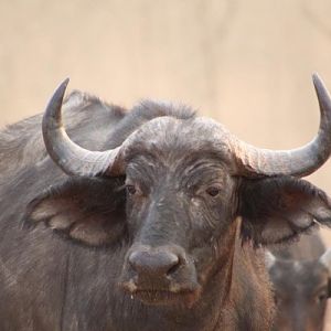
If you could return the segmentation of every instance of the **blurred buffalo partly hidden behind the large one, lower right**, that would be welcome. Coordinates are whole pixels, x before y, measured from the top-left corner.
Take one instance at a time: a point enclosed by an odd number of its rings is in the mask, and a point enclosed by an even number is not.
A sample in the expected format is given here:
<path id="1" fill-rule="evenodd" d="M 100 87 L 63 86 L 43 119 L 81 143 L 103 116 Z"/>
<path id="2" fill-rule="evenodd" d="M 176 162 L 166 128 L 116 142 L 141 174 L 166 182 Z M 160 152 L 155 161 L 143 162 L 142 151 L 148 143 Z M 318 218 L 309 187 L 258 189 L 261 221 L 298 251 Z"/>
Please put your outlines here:
<path id="1" fill-rule="evenodd" d="M 273 330 L 322 331 L 331 296 L 331 248 L 318 233 L 267 254 L 274 284 L 276 319 Z"/>

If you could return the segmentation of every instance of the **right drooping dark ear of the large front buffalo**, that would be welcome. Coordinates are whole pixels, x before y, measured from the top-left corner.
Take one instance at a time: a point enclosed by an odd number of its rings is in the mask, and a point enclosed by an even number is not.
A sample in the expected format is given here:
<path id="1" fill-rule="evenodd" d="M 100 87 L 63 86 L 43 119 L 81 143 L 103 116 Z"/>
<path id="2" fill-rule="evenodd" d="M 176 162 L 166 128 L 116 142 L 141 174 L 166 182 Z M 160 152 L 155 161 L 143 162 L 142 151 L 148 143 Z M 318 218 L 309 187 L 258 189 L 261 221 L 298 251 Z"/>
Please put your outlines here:
<path id="1" fill-rule="evenodd" d="M 296 238 L 316 224 L 331 227 L 331 201 L 311 183 L 292 177 L 244 179 L 242 237 L 255 246 Z"/>

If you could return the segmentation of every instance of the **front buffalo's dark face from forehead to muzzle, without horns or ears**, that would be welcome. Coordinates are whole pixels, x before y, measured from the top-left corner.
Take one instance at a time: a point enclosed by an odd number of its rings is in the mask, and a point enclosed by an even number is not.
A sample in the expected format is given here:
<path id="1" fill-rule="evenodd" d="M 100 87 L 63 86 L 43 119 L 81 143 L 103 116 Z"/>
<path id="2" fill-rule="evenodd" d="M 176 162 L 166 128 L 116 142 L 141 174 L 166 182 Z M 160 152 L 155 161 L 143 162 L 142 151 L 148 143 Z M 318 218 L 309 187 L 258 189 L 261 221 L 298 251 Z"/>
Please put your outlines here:
<path id="1" fill-rule="evenodd" d="M 168 136 L 178 141 L 180 126 L 173 122 L 171 131 Z M 127 154 L 126 211 L 132 246 L 120 286 L 151 305 L 190 305 L 217 265 L 220 243 L 226 242 L 236 206 L 236 180 L 220 157 L 196 150 L 197 141 L 177 142 L 175 150 L 167 148 L 173 146 L 170 139 L 167 145 L 162 141 L 163 137 L 154 140 L 148 150 L 137 141 Z"/>

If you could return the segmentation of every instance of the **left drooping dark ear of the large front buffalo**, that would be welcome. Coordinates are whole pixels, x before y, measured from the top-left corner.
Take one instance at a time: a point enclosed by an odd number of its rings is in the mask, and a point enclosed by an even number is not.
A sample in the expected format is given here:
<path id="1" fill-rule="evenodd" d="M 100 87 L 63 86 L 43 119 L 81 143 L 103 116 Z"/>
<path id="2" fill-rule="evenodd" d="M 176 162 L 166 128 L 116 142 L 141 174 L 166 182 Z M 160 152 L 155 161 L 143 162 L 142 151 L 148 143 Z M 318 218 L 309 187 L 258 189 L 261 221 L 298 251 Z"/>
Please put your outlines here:
<path id="1" fill-rule="evenodd" d="M 72 178 L 34 199 L 24 225 L 40 223 L 74 241 L 113 244 L 126 227 L 124 179 Z"/>

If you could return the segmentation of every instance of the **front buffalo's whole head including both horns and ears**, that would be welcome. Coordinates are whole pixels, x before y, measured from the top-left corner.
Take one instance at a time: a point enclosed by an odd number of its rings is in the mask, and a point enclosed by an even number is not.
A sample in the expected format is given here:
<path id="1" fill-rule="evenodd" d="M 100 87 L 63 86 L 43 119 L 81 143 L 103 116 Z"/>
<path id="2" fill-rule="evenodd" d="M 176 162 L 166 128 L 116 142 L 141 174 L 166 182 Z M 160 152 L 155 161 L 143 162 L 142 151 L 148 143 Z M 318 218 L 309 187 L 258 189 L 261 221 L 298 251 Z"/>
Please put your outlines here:
<path id="1" fill-rule="evenodd" d="M 115 243 L 127 247 L 117 280 L 129 296 L 193 305 L 217 270 L 231 279 L 238 217 L 243 242 L 254 246 L 330 223 L 330 200 L 298 179 L 331 152 L 331 100 L 313 82 L 320 130 L 299 149 L 255 148 L 212 119 L 154 104 L 163 115 L 134 120 L 113 149 L 90 151 L 62 125 L 65 81 L 47 105 L 43 137 L 71 179 L 36 197 L 28 218 L 90 246 L 113 245 L 113 254 Z"/>

